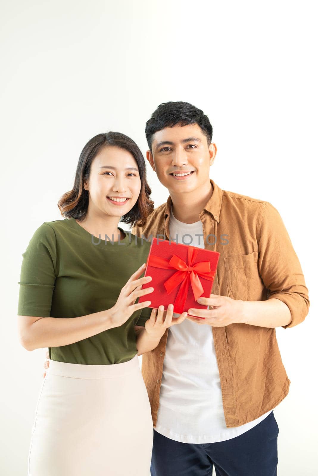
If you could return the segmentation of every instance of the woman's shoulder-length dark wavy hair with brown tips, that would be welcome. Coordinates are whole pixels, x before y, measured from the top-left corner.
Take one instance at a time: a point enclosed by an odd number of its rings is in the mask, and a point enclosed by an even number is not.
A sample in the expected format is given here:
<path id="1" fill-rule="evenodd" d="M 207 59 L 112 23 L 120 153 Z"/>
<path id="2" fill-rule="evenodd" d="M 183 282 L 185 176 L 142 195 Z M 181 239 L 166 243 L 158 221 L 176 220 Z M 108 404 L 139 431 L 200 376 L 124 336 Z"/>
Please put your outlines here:
<path id="1" fill-rule="evenodd" d="M 99 151 L 107 146 L 119 147 L 132 154 L 137 162 L 141 182 L 140 193 L 134 207 L 120 219 L 123 223 L 138 225 L 146 224 L 147 218 L 153 212 L 154 202 L 150 200 L 151 188 L 146 179 L 146 164 L 136 142 L 120 132 L 107 132 L 98 134 L 88 141 L 80 153 L 77 164 L 74 186 L 72 190 L 64 193 L 58 202 L 61 215 L 64 218 L 77 218 L 83 220 L 87 214 L 89 205 L 89 192 L 84 188 L 84 182 L 89 179 L 90 167 L 93 159 Z"/>

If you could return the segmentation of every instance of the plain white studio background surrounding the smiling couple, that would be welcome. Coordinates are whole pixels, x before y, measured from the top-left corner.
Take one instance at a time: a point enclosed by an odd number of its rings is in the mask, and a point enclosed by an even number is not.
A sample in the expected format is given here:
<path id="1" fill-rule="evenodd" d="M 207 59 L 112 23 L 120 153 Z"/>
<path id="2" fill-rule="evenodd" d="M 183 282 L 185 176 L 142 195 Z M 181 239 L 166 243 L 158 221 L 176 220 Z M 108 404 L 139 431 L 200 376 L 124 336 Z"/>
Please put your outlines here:
<path id="1" fill-rule="evenodd" d="M 277 329 L 291 380 L 275 409 L 278 476 L 316 474 L 314 2 L 19 0 L 1 10 L 0 473 L 26 474 L 46 352 L 18 341 L 21 254 L 41 223 L 62 219 L 57 201 L 92 136 L 118 130 L 145 153 L 150 114 L 183 100 L 214 127 L 210 178 L 272 203 L 301 262 L 309 315 Z M 168 191 L 147 170 L 157 207 Z"/>

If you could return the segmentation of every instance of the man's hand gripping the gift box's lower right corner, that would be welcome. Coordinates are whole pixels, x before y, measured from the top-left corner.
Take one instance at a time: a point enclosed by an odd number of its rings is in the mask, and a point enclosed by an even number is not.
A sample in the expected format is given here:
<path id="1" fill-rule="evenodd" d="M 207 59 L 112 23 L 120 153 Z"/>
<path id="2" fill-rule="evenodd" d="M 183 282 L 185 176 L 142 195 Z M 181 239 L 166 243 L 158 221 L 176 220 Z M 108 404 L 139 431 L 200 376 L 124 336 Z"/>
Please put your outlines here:
<path id="1" fill-rule="evenodd" d="M 209 326 L 212 327 L 224 327 L 229 324 L 234 324 L 235 322 L 242 322 L 241 316 L 244 301 L 211 294 L 210 297 L 199 297 L 197 302 L 212 308 L 189 309 L 187 319 L 192 322 L 196 322 L 197 324 L 209 324 Z M 189 316 L 189 314 L 198 317 Z"/>

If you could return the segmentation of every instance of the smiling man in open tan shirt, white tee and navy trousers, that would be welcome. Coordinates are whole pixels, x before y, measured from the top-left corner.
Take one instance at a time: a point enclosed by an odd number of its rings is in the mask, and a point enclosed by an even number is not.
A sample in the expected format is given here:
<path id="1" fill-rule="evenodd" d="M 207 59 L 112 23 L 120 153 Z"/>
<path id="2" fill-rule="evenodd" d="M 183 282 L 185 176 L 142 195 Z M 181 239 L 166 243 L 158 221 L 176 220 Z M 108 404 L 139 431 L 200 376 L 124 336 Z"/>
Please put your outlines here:
<path id="1" fill-rule="evenodd" d="M 217 147 L 203 111 L 160 104 L 146 137 L 147 159 L 169 198 L 132 233 L 220 253 L 212 294 L 198 299 L 207 309 L 187 310 L 205 319 L 188 316 L 142 357 L 154 425 L 151 475 L 203 476 L 215 466 L 222 476 L 274 476 L 272 410 L 290 384 L 275 327 L 296 326 L 309 307 L 298 258 L 276 208 L 209 178 Z"/>

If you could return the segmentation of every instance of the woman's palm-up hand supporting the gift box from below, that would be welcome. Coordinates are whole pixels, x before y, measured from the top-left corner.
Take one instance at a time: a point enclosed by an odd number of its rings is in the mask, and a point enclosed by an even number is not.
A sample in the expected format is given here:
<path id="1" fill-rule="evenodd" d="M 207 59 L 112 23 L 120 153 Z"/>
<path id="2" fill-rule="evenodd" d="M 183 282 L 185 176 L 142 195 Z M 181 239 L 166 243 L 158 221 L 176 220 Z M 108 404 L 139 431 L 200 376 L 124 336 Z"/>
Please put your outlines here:
<path id="1" fill-rule="evenodd" d="M 164 306 L 159 306 L 158 314 L 157 309 L 152 309 L 150 318 L 145 322 L 145 329 L 149 337 L 160 338 L 165 333 L 168 327 L 175 324 L 181 324 L 188 316 L 187 312 L 183 312 L 179 317 L 172 317 L 173 304 L 169 304 L 167 311 L 164 310 Z"/>

